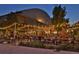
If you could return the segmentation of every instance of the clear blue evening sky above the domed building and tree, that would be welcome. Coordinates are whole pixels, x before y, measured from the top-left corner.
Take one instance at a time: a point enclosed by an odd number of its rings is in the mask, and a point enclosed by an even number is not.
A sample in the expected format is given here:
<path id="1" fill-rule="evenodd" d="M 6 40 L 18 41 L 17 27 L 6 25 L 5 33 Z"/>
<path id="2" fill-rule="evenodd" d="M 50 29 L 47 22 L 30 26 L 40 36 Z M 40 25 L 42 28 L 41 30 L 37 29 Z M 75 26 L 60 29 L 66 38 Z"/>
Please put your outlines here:
<path id="1" fill-rule="evenodd" d="M 0 4 L 0 15 L 4 15 L 10 12 L 20 11 L 24 9 L 31 8 L 40 8 L 46 11 L 50 16 L 52 16 L 53 8 L 57 6 L 54 4 Z M 66 7 L 67 16 L 66 18 L 70 18 L 70 22 L 74 23 L 79 21 L 79 5 L 78 4 L 69 4 L 69 5 L 61 5 Z"/>

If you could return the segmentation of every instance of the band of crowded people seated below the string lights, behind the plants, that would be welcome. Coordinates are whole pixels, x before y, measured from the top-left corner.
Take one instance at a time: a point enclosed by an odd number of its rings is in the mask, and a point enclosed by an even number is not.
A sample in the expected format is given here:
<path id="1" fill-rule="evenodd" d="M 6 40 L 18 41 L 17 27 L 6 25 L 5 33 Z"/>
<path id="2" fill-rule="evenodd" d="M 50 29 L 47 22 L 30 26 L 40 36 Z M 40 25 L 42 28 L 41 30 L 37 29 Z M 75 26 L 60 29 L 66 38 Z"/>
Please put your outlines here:
<path id="1" fill-rule="evenodd" d="M 59 35 L 32 35 L 32 34 L 24 34 L 24 33 L 18 33 L 15 34 L 12 33 L 0 33 L 0 43 L 10 43 L 10 44 L 19 44 L 21 42 L 27 43 L 31 41 L 38 40 L 43 44 L 53 44 L 53 45 L 58 45 L 58 44 L 78 44 L 79 40 L 78 38 L 75 38 L 74 36 L 71 37 L 60 37 Z"/>

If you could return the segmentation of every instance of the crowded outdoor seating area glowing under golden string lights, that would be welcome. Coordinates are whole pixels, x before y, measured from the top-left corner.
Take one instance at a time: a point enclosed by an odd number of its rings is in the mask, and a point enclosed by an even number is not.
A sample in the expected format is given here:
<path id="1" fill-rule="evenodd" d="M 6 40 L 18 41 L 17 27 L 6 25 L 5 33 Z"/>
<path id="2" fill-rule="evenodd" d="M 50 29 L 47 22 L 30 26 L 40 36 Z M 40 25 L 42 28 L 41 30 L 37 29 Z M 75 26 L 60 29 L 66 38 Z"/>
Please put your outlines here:
<path id="1" fill-rule="evenodd" d="M 75 36 L 71 28 L 57 32 L 54 26 L 51 26 L 14 23 L 8 27 L 0 28 L 0 43 L 79 51 L 79 36 Z"/>

